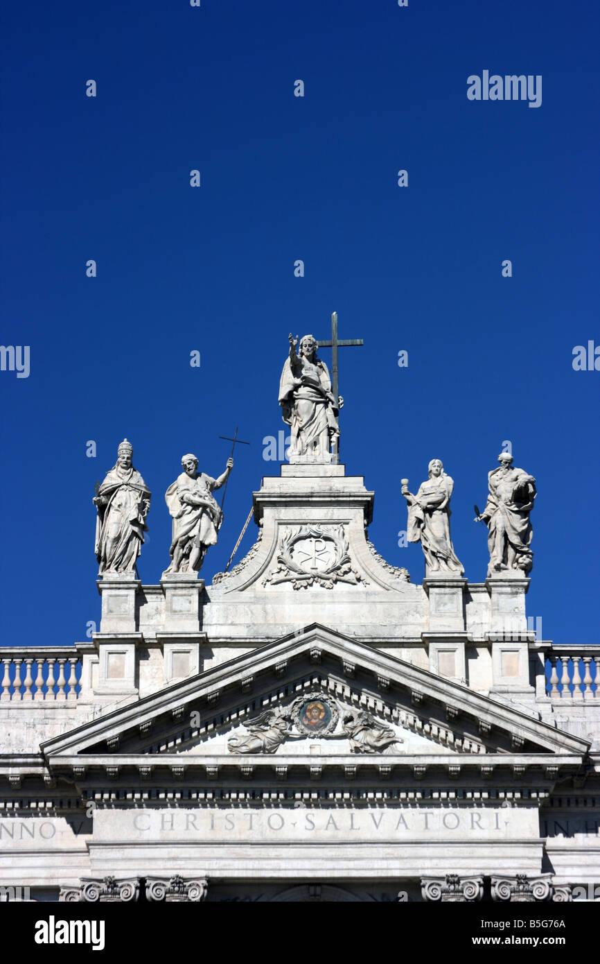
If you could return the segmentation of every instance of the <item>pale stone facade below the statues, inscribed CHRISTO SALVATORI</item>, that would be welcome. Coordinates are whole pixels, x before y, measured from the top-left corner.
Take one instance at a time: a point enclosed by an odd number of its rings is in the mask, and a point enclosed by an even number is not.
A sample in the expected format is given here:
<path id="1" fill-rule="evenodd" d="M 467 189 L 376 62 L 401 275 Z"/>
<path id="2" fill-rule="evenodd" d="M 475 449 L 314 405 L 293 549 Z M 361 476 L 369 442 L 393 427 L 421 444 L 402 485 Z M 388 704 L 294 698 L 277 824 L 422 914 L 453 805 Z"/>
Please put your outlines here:
<path id="1" fill-rule="evenodd" d="M 284 465 L 253 498 L 257 541 L 210 585 L 107 573 L 90 642 L 0 651 L 0 886 L 600 894 L 600 649 L 535 639 L 523 571 L 409 581 L 342 465 Z"/>

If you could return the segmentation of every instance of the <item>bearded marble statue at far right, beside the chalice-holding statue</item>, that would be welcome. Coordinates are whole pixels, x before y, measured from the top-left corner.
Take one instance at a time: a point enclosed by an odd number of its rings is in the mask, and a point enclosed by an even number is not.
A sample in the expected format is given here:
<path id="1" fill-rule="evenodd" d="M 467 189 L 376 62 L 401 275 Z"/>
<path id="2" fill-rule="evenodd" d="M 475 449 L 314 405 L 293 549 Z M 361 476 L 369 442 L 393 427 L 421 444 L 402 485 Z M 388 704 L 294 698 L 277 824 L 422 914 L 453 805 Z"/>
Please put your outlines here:
<path id="1" fill-rule="evenodd" d="M 489 495 L 485 508 L 475 517 L 475 522 L 485 522 L 488 528 L 487 575 L 529 573 L 534 564 L 530 513 L 536 495 L 535 478 L 524 469 L 513 469 L 509 452 L 501 452 L 498 462 L 500 468 L 487 475 Z"/>

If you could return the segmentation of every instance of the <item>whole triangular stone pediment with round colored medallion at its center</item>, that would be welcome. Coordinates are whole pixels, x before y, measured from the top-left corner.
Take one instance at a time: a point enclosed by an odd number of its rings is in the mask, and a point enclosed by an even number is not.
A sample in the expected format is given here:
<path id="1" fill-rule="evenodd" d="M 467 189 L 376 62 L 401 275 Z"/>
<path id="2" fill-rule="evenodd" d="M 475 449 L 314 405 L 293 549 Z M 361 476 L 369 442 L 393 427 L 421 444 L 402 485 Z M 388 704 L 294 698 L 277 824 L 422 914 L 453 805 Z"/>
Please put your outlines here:
<path id="1" fill-rule="evenodd" d="M 534 715 L 320 625 L 41 746 L 49 766 L 80 771 L 376 759 L 416 769 L 422 758 L 482 770 L 515 760 L 577 769 L 587 748 Z"/>

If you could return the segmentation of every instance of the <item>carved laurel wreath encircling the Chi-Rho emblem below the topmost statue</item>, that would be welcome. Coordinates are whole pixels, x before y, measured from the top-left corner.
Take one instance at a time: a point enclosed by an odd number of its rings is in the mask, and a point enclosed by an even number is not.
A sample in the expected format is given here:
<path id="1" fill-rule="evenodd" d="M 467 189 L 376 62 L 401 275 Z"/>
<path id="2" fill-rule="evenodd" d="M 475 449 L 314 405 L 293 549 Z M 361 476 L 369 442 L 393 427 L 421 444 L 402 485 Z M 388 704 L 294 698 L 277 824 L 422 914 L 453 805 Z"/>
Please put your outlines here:
<path id="1" fill-rule="evenodd" d="M 332 543 L 334 558 L 322 570 L 303 569 L 294 559 L 293 550 L 303 539 L 324 539 Z M 355 586 L 365 580 L 352 568 L 350 547 L 344 526 L 340 525 L 300 525 L 300 528 L 286 529 L 277 551 L 277 569 L 263 580 L 263 585 L 271 582 L 274 586 L 281 582 L 291 582 L 294 589 L 307 589 L 314 584 L 332 589 L 335 582 L 348 582 Z"/>

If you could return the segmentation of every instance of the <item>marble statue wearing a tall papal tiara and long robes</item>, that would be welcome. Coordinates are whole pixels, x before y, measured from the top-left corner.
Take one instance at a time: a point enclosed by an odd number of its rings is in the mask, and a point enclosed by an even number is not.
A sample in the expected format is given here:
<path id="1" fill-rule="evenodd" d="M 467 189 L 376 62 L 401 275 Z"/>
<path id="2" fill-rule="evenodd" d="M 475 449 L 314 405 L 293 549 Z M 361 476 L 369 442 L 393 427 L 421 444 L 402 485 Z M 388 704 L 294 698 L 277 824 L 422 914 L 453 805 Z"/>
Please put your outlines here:
<path id="1" fill-rule="evenodd" d="M 133 448 L 126 439 L 117 448 L 117 463 L 93 497 L 97 510 L 95 554 L 99 574 L 133 573 L 140 555 L 150 492 L 131 464 Z"/>

